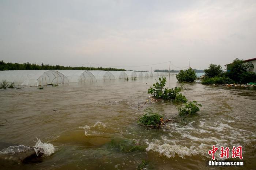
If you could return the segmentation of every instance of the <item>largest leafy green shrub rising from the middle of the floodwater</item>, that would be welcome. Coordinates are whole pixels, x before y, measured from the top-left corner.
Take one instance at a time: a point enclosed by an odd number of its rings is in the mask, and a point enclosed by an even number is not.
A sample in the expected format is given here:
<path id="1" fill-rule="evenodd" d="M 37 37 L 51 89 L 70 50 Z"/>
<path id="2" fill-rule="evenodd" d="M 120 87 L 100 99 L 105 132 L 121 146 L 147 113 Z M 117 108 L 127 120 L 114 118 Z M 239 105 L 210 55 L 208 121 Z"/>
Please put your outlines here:
<path id="1" fill-rule="evenodd" d="M 156 80 L 156 83 L 148 89 L 148 93 L 150 93 L 154 98 L 162 98 L 163 100 L 175 100 L 176 102 L 181 103 L 187 102 L 186 97 L 180 93 L 182 88 L 164 88 L 166 77 L 159 77 L 158 80 L 159 82 Z"/>

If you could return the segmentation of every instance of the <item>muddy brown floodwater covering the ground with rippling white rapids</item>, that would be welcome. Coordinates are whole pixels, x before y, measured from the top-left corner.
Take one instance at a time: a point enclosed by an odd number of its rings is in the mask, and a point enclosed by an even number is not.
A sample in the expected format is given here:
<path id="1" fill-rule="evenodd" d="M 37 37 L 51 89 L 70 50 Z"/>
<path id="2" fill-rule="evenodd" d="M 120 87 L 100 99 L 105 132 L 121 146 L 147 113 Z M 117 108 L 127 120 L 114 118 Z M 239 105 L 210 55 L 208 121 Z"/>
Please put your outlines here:
<path id="1" fill-rule="evenodd" d="M 146 107 L 165 118 L 176 116 L 178 107 L 148 102 L 153 82 L 155 77 L 1 90 L 0 141 L 33 147 L 38 138 L 54 153 L 41 162 L 0 167 L 134 170 L 147 160 L 152 170 L 255 169 L 255 88 L 186 84 L 182 94 L 202 104 L 198 115 L 151 129 L 137 124 Z M 177 85 L 174 75 L 167 76 L 166 86 Z M 245 166 L 206 166 L 212 145 L 229 147 L 230 155 L 233 146 L 242 146 Z"/>

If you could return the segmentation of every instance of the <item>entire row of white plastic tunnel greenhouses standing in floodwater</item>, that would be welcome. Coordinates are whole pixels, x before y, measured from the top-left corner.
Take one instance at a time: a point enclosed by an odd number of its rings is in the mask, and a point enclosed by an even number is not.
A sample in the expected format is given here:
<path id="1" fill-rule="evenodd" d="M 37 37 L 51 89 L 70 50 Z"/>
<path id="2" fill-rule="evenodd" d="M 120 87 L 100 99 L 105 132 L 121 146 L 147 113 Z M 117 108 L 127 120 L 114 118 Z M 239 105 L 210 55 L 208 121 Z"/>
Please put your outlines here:
<path id="1" fill-rule="evenodd" d="M 0 71 L 0 81 L 6 80 L 16 85 L 40 86 L 90 81 L 135 80 L 136 78 L 167 75 L 169 73 L 103 70 L 8 70 Z"/>

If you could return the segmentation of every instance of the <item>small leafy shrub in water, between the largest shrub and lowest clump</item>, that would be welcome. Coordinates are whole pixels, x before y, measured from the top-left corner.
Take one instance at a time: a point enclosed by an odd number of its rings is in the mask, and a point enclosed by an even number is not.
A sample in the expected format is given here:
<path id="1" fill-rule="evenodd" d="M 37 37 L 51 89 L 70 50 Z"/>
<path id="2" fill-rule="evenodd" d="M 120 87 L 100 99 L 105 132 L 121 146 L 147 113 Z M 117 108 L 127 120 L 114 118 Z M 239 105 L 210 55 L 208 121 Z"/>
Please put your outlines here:
<path id="1" fill-rule="evenodd" d="M 199 111 L 199 107 L 202 107 L 201 104 L 197 104 L 196 101 L 193 102 L 188 102 L 184 106 L 178 108 L 178 113 L 180 116 L 185 116 L 185 115 L 195 115 L 197 111 Z"/>

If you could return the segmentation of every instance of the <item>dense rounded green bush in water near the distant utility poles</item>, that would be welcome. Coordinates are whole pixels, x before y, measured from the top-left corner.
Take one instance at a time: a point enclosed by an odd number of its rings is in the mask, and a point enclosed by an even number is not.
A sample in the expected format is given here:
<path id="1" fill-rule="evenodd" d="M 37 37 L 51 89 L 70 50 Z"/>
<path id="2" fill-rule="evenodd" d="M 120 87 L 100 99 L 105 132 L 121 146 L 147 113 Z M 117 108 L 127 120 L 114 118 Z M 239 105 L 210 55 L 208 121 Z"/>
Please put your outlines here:
<path id="1" fill-rule="evenodd" d="M 176 78 L 179 82 L 194 82 L 194 80 L 196 80 L 196 72 L 191 68 L 188 70 L 180 70 Z"/>

